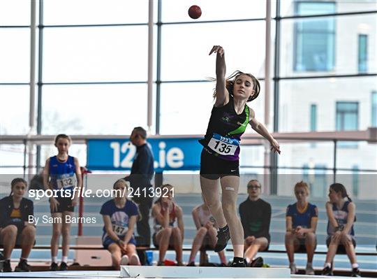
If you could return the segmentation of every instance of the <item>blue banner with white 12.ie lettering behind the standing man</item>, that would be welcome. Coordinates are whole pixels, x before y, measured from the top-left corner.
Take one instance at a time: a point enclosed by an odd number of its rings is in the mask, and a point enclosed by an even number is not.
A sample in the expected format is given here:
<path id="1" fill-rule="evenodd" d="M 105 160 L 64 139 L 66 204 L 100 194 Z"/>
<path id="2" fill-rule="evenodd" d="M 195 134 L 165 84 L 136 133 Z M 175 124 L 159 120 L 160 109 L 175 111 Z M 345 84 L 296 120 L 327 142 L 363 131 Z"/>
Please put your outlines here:
<path id="1" fill-rule="evenodd" d="M 198 138 L 148 138 L 156 172 L 200 169 L 202 145 Z M 121 139 L 87 142 L 87 166 L 93 171 L 131 170 L 136 148 Z"/>

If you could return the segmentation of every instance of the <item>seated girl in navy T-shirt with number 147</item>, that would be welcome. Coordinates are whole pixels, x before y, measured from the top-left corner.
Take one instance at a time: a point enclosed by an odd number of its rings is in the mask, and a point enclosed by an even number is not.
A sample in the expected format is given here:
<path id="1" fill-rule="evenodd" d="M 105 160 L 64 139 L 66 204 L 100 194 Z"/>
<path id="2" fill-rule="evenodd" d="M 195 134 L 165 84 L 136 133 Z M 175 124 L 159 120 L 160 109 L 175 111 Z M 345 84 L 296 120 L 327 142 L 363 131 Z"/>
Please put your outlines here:
<path id="1" fill-rule="evenodd" d="M 136 241 L 133 236 L 136 220 L 138 219 L 138 206 L 126 199 L 128 186 L 123 179 L 114 183 L 116 190 L 114 199 L 103 203 L 103 247 L 111 253 L 112 266 L 119 267 L 127 264 L 140 266 L 136 252 Z"/>

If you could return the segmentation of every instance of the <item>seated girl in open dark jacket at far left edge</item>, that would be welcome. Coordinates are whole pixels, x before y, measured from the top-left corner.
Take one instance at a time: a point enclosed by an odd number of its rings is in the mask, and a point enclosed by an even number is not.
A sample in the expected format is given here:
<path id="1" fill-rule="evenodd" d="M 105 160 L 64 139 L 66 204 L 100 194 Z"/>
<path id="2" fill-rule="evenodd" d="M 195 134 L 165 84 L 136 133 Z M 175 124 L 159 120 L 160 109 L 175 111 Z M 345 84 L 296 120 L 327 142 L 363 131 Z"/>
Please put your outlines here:
<path id="1" fill-rule="evenodd" d="M 15 246 L 20 246 L 20 262 L 15 271 L 30 271 L 27 264 L 31 248 L 36 238 L 36 227 L 29 223 L 29 215 L 34 215 L 33 201 L 24 198 L 27 182 L 22 178 L 15 178 L 10 183 L 9 196 L 0 200 L 0 243 L 3 245 L 3 272 L 11 272 L 10 255 Z"/>

